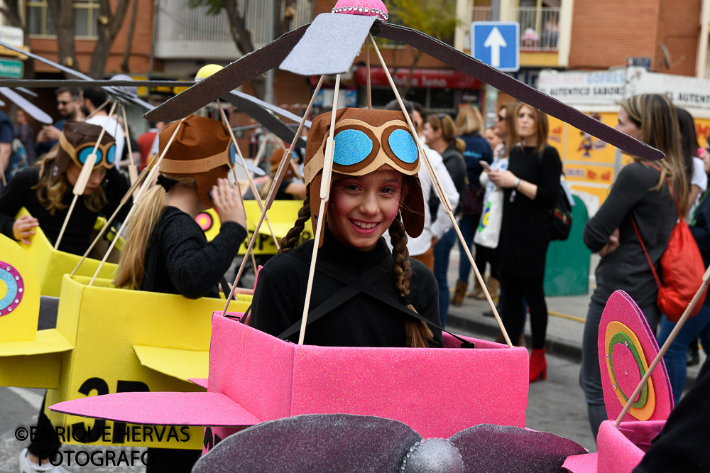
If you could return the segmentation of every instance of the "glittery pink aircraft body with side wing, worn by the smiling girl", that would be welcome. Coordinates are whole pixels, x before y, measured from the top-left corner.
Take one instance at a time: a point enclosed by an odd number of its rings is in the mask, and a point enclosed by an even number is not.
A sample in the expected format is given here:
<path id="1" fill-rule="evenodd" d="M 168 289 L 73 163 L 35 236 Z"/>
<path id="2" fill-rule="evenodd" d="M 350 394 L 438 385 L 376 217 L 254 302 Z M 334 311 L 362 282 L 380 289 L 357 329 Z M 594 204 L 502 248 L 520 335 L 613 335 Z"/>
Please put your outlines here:
<path id="1" fill-rule="evenodd" d="M 444 349 L 297 345 L 216 312 L 207 393 L 120 393 L 52 408 L 126 423 L 207 425 L 220 438 L 311 413 L 377 415 L 423 437 L 481 423 L 525 427 L 527 350 L 470 341 L 475 349 L 457 348 L 447 334 Z"/>

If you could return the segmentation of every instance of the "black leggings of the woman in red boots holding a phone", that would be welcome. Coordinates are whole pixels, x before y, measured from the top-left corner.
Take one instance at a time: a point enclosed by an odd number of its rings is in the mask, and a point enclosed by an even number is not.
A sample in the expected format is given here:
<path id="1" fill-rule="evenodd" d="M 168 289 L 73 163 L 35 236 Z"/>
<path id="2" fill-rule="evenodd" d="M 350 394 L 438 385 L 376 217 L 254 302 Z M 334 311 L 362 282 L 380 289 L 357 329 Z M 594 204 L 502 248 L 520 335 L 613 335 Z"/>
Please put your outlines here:
<path id="1" fill-rule="evenodd" d="M 501 271 L 503 284 L 503 325 L 510 337 L 523 329 L 525 313 L 523 299 L 530 307 L 530 327 L 532 328 L 532 348 L 545 348 L 547 331 L 547 304 L 543 278 L 525 278 L 517 274 Z"/>

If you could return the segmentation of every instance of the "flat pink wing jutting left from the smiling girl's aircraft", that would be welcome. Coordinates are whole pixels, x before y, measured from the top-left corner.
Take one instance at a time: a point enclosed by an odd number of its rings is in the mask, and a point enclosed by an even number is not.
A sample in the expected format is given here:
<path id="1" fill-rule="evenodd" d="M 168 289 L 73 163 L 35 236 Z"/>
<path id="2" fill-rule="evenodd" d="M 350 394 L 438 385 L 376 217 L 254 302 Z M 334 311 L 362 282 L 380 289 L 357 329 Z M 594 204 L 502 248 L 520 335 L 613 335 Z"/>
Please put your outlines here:
<path id="1" fill-rule="evenodd" d="M 256 425 L 254 415 L 220 393 L 114 393 L 50 406 L 53 411 L 143 425 Z"/>

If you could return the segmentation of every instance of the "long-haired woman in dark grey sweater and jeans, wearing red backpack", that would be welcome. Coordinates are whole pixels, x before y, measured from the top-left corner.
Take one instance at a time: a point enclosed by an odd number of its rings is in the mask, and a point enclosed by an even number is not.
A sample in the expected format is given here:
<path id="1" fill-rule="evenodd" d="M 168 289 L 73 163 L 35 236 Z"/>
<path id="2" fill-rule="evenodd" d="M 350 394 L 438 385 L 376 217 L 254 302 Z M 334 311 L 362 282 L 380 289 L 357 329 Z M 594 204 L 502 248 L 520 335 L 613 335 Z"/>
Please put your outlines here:
<path id="1" fill-rule="evenodd" d="M 595 273 L 597 287 L 584 325 L 579 373 L 595 436 L 601 422 L 608 418 L 597 349 L 606 301 L 614 290 L 624 290 L 638 304 L 651 330 L 655 330 L 661 312 L 654 268 L 656 272 L 659 269 L 678 221 L 678 209 L 682 218 L 688 207 L 678 120 L 670 100 L 660 94 L 626 99 L 619 109 L 616 129 L 660 149 L 666 157 L 654 163 L 643 163 L 634 157 L 619 171 L 608 197 L 584 228 L 584 244 L 601 256 Z M 672 183 L 672 190 L 668 183 Z"/>

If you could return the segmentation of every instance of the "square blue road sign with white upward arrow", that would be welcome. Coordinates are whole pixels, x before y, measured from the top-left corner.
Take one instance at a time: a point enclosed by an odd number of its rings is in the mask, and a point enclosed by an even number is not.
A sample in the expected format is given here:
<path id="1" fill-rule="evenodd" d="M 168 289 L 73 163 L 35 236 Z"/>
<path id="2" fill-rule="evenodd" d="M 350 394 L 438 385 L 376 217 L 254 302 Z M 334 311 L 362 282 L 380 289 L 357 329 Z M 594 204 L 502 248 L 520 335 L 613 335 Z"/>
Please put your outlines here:
<path id="1" fill-rule="evenodd" d="M 520 69 L 520 24 L 517 21 L 471 23 L 474 58 L 504 72 Z"/>

